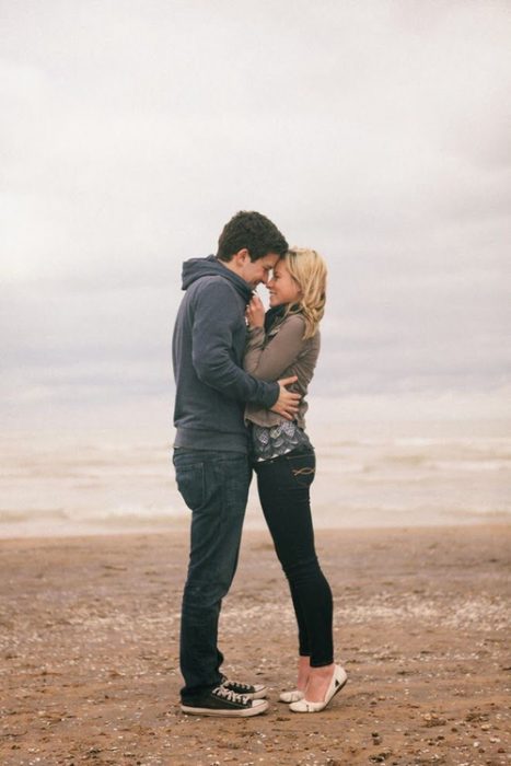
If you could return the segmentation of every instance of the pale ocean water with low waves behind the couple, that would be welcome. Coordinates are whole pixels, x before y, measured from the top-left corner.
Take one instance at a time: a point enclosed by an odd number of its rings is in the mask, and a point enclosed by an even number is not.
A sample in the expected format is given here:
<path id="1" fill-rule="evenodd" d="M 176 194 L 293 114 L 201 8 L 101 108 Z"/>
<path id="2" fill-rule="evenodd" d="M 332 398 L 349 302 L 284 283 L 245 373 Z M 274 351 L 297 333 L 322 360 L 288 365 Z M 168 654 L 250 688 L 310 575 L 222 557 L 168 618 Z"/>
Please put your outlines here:
<path id="1" fill-rule="evenodd" d="M 316 527 L 511 521 L 511 438 L 491 423 L 317 422 Z M 186 529 L 171 434 L 0 438 L 0 536 Z M 255 483 L 246 526 L 263 529 Z"/>

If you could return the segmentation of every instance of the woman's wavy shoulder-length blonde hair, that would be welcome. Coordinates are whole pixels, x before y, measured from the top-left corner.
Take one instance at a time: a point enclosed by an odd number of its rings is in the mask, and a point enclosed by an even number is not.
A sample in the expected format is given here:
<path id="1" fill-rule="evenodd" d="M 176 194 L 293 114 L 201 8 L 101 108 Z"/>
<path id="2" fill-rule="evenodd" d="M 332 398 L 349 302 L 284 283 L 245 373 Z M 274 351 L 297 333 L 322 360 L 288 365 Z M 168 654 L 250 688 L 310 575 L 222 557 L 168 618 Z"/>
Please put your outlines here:
<path id="1" fill-rule="evenodd" d="M 283 256 L 289 274 L 302 293 L 298 304 L 288 307 L 288 314 L 301 313 L 305 320 L 303 339 L 312 338 L 325 313 L 326 264 L 315 249 L 291 247 Z"/>

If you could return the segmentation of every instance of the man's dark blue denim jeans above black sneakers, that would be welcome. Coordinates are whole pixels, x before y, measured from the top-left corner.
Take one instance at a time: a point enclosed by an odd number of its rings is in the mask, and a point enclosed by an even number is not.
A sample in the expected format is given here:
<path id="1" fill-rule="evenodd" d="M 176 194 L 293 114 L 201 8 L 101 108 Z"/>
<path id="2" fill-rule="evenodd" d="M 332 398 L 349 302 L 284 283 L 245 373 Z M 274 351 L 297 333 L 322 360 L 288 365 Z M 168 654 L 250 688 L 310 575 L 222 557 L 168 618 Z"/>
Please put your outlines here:
<path id="1" fill-rule="evenodd" d="M 176 449 L 176 481 L 191 510 L 190 556 L 183 594 L 182 699 L 193 701 L 222 680 L 217 646 L 223 596 L 234 578 L 252 471 L 240 452 Z"/>

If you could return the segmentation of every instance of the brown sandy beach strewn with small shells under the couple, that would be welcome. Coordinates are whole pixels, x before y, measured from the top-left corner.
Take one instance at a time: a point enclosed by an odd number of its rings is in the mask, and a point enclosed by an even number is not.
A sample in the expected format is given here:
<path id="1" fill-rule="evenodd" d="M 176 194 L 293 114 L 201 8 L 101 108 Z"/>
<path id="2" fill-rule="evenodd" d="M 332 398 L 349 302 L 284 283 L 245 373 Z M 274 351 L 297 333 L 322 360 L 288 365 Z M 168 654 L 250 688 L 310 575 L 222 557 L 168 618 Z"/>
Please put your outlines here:
<path id="1" fill-rule="evenodd" d="M 2 766 L 510 763 L 509 526 L 322 530 L 337 660 L 321 715 L 293 682 L 287 584 L 247 531 L 224 602 L 224 671 L 270 686 L 245 720 L 178 708 L 183 531 L 0 544 Z"/>

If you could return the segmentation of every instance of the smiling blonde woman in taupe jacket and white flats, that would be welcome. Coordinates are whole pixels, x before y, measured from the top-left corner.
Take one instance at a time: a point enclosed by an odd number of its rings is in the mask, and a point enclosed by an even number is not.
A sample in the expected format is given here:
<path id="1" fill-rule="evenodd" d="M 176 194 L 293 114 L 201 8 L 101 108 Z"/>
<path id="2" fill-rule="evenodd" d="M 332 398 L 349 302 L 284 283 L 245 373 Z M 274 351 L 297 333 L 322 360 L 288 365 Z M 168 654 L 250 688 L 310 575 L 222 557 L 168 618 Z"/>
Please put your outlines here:
<path id="1" fill-rule="evenodd" d="M 245 370 L 267 381 L 297 375 L 293 387 L 302 399 L 292 422 L 253 406 L 245 417 L 252 423 L 260 504 L 289 581 L 299 631 L 297 688 L 282 693 L 280 700 L 294 712 L 318 712 L 347 681 L 344 669 L 334 664 L 332 591 L 314 549 L 310 487 L 315 456 L 304 431 L 304 397 L 320 352 L 325 263 L 315 251 L 291 249 L 267 287 L 266 316 L 257 295 L 247 307 Z"/>

